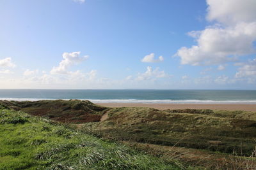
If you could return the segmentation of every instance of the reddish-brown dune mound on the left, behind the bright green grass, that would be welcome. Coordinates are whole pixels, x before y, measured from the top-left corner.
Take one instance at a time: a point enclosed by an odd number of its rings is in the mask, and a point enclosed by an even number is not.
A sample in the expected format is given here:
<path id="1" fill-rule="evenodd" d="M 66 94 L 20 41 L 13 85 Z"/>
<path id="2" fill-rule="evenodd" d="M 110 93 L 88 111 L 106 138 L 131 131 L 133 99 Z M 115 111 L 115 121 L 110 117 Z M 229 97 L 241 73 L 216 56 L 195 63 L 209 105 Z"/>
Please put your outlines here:
<path id="1" fill-rule="evenodd" d="M 31 115 L 51 118 L 58 122 L 82 124 L 99 122 L 106 107 L 98 106 L 90 101 L 55 100 L 55 101 L 0 101 L 6 108 L 20 110 Z"/>

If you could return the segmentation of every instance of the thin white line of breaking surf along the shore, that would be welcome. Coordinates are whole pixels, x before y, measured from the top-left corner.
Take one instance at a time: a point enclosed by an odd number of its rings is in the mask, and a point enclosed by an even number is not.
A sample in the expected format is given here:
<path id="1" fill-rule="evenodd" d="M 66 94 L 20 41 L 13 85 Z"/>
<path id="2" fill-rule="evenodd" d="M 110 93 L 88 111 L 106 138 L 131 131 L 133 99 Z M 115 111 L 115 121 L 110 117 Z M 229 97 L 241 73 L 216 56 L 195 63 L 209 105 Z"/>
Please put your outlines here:
<path id="1" fill-rule="evenodd" d="M 40 100 L 56 100 L 45 98 L 11 98 L 0 97 L 0 100 L 7 101 L 40 101 Z M 69 99 L 62 99 L 69 100 Z M 244 103 L 244 104 L 256 104 L 256 100 L 228 100 L 228 101 L 213 101 L 213 100 L 139 100 L 139 99 L 79 99 L 89 100 L 92 103 L 205 103 L 205 104 L 221 104 L 221 103 Z"/>

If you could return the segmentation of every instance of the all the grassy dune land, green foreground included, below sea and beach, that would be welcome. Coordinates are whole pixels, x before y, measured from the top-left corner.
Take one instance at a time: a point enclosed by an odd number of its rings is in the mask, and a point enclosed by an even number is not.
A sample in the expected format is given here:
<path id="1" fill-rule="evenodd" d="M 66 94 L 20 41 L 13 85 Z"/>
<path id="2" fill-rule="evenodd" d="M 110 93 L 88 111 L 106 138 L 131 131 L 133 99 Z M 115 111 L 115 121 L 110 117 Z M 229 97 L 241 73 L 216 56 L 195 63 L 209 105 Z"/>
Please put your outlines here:
<path id="1" fill-rule="evenodd" d="M 20 161 L 15 165 L 31 169 L 256 169 L 256 113 L 250 111 L 106 108 L 79 100 L 0 105 L 0 146 L 6 148 L 0 167 Z"/>

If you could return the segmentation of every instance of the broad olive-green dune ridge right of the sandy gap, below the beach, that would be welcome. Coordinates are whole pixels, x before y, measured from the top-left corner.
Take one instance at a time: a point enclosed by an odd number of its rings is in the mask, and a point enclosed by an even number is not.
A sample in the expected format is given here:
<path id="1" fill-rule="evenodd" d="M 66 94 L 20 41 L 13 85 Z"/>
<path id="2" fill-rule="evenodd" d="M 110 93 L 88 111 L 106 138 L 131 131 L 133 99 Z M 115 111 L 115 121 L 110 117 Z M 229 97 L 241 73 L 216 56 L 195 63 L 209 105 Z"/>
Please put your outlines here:
<path id="1" fill-rule="evenodd" d="M 86 124 L 84 129 L 118 140 L 223 153 L 243 150 L 243 154 L 251 155 L 255 148 L 255 115 L 243 111 L 113 108 L 107 120 Z"/>

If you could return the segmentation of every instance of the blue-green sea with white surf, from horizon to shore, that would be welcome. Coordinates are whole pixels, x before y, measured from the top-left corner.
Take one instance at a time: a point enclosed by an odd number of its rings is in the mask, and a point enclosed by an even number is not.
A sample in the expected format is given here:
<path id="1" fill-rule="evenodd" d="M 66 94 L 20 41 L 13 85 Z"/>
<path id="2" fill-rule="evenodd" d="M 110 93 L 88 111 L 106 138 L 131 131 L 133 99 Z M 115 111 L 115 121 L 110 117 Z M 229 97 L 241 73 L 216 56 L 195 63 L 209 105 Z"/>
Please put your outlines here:
<path id="1" fill-rule="evenodd" d="M 93 103 L 248 103 L 256 90 L 0 90 L 0 100 L 83 99 Z"/>

